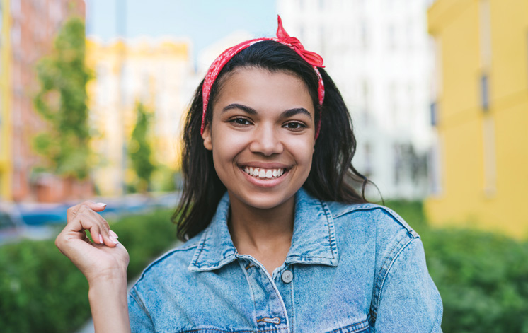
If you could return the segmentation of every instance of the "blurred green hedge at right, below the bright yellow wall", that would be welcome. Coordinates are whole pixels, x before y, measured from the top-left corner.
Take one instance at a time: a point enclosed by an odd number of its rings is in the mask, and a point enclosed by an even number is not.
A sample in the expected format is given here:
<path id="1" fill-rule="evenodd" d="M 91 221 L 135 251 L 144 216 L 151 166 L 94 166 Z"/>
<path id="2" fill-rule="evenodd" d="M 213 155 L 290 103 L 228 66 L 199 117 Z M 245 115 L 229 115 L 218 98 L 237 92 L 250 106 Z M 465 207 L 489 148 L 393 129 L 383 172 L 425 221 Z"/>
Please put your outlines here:
<path id="1" fill-rule="evenodd" d="M 420 202 L 389 201 L 420 233 L 444 303 L 444 332 L 528 333 L 528 243 L 428 228 Z"/>

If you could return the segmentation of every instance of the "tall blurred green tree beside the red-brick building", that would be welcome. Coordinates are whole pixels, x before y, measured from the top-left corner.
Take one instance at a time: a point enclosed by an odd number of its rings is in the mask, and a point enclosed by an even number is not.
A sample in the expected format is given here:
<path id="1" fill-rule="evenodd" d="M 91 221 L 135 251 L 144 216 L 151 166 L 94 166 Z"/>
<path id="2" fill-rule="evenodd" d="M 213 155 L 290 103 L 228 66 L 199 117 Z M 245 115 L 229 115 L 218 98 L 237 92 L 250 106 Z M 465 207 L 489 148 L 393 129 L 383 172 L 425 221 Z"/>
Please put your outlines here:
<path id="1" fill-rule="evenodd" d="M 47 132 L 35 137 L 35 150 L 45 156 L 57 175 L 88 176 L 91 149 L 86 106 L 86 83 L 91 77 L 84 64 L 84 21 L 70 18 L 54 40 L 49 57 L 37 65 L 40 91 L 33 103 L 47 120 Z"/>

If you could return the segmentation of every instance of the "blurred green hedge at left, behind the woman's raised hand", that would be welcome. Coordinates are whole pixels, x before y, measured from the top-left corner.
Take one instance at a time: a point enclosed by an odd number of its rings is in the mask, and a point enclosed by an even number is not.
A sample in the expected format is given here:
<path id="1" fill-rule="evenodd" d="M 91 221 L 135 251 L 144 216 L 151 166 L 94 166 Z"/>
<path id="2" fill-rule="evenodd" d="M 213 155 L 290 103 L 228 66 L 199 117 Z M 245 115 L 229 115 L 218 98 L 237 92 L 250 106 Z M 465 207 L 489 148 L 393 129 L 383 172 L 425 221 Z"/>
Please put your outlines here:
<path id="1" fill-rule="evenodd" d="M 110 225 L 130 253 L 133 279 L 176 242 L 171 211 L 121 218 Z M 0 247 L 0 331 L 74 332 L 90 317 L 88 283 L 54 240 Z"/>

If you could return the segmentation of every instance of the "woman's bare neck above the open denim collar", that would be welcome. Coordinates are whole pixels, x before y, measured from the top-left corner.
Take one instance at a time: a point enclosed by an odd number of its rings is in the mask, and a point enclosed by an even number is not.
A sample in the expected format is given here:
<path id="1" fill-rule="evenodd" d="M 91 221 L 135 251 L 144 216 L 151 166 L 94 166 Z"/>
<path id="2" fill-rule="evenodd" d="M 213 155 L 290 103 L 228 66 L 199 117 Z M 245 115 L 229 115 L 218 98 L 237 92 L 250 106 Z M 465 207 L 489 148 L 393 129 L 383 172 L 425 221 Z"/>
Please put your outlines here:
<path id="1" fill-rule="evenodd" d="M 272 209 L 256 209 L 230 195 L 229 231 L 236 250 L 258 256 L 263 253 L 287 254 L 292 243 L 295 198 Z"/>

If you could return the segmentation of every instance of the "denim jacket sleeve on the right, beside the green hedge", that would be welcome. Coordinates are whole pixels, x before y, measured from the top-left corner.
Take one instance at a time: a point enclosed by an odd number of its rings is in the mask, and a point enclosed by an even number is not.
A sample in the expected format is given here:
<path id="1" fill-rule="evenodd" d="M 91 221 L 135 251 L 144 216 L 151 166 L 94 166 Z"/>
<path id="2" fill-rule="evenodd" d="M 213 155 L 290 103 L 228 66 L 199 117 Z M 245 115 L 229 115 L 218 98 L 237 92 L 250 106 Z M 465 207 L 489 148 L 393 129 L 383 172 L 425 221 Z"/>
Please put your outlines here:
<path id="1" fill-rule="evenodd" d="M 374 332 L 442 332 L 442 299 L 425 264 L 420 238 L 389 258 L 371 308 Z"/>

